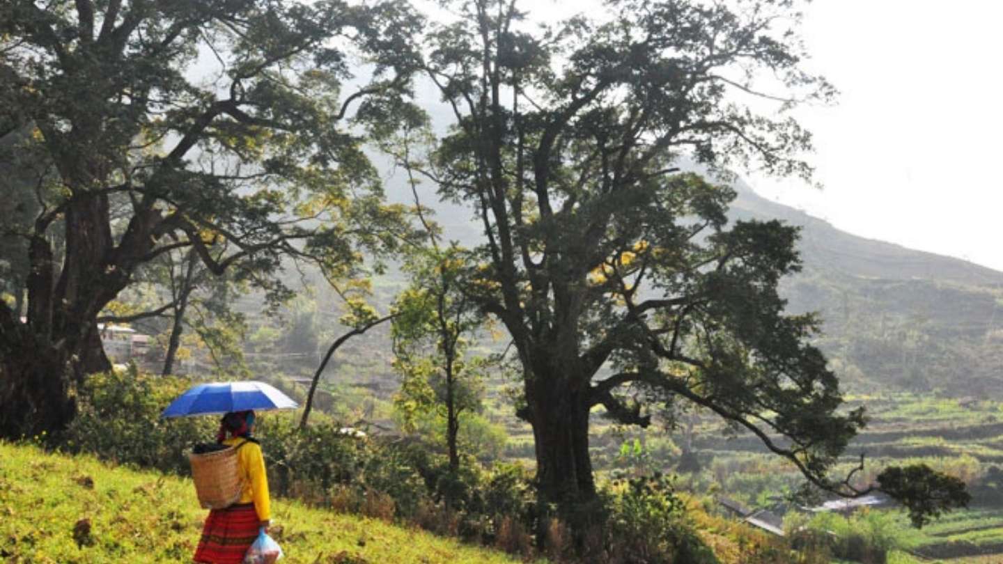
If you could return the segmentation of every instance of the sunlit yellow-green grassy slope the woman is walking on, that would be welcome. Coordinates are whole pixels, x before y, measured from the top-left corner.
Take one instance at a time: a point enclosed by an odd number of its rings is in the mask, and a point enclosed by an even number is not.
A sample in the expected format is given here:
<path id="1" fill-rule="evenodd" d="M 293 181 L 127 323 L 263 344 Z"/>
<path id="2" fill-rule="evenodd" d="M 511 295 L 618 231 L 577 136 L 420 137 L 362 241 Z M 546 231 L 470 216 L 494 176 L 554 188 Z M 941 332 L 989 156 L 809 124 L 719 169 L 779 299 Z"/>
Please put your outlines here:
<path id="1" fill-rule="evenodd" d="M 0 443 L 0 561 L 32 564 L 187 562 L 207 512 L 191 481 L 89 457 Z M 273 500 L 285 564 L 504 563 L 512 557 L 382 521 Z M 90 522 L 91 546 L 74 526 Z"/>

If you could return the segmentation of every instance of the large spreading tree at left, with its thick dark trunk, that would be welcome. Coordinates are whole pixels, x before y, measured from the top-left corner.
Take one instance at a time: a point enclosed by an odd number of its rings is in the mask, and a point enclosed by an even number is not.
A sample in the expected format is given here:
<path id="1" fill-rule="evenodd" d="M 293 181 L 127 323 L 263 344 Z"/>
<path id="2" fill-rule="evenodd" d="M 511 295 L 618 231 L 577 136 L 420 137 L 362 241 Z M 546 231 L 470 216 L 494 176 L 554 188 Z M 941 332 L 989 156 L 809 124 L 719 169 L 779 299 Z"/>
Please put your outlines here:
<path id="1" fill-rule="evenodd" d="M 48 165 L 8 234 L 30 269 L 27 322 L 0 302 L 0 399 L 23 406 L 0 430 L 65 425 L 67 386 L 106 365 L 96 316 L 165 253 L 279 299 L 284 256 L 338 276 L 392 248 L 403 210 L 382 204 L 361 133 L 402 103 L 419 26 L 393 1 L 0 6 L 0 121 Z"/>

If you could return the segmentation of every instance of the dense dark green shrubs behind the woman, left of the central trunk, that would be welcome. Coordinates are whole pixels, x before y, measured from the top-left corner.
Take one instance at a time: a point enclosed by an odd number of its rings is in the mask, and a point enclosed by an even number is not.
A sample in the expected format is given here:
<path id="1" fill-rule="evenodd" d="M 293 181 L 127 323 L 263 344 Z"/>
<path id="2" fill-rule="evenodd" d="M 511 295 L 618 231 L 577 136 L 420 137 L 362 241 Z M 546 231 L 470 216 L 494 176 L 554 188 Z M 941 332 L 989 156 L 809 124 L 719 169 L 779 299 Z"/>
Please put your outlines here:
<path id="1" fill-rule="evenodd" d="M 79 390 L 79 415 L 54 442 L 72 453 L 188 475 L 187 451 L 214 440 L 218 417 L 159 414 L 193 383 L 134 368 L 94 374 Z M 501 517 L 527 522 L 533 492 L 521 467 L 499 465 L 488 472 L 467 458 L 459 473 L 449 473 L 444 458 L 426 445 L 357 438 L 322 413 L 305 430 L 294 413 L 266 412 L 258 421 L 256 436 L 276 495 L 386 519 L 412 519 L 419 509 L 448 510 L 455 514 L 448 518 L 453 529 L 488 542 Z"/>

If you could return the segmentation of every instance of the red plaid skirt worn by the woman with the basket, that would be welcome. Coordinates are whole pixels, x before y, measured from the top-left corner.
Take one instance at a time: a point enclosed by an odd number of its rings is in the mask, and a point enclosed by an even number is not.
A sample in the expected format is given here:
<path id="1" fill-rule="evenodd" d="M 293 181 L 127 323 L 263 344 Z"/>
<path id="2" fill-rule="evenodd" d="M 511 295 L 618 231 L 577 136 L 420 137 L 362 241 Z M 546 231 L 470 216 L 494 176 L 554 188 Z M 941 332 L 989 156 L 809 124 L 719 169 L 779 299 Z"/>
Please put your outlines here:
<path id="1" fill-rule="evenodd" d="M 195 561 L 208 564 L 241 564 L 258 538 L 258 512 L 254 504 L 214 509 L 206 518 Z"/>

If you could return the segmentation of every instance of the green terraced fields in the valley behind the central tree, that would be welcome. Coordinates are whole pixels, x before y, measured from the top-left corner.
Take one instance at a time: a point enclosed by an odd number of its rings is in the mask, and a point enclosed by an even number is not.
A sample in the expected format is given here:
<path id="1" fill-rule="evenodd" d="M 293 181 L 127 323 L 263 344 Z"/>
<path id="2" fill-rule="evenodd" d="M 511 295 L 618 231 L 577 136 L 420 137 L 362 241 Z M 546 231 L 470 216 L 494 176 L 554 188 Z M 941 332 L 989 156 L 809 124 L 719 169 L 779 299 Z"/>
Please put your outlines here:
<path id="1" fill-rule="evenodd" d="M 958 476 L 973 494 L 967 511 L 906 533 L 903 552 L 895 561 L 1003 564 L 1003 401 L 911 393 L 850 397 L 850 407 L 862 404 L 867 406 L 870 421 L 847 450 L 840 471 L 849 472 L 864 453 L 867 470 L 859 474 L 863 485 L 886 466 L 922 462 Z M 492 415 L 506 425 L 510 435 L 507 458 L 532 465 L 529 426 L 500 411 Z M 595 415 L 591 445 L 600 476 L 642 463 L 650 470 L 677 470 L 680 448 L 687 439 L 684 430 L 666 434 L 653 429 L 642 437 Z M 621 446 L 635 439 L 646 445 L 644 460 L 624 460 Z M 776 510 L 782 505 L 777 500 L 801 483 L 794 469 L 767 454 L 758 439 L 729 434 L 711 416 L 696 418 L 690 439 L 700 468 L 679 473 L 678 485 L 697 496 L 717 491 L 752 508 Z M 897 520 L 909 529 L 905 516 Z"/>

